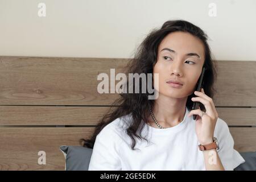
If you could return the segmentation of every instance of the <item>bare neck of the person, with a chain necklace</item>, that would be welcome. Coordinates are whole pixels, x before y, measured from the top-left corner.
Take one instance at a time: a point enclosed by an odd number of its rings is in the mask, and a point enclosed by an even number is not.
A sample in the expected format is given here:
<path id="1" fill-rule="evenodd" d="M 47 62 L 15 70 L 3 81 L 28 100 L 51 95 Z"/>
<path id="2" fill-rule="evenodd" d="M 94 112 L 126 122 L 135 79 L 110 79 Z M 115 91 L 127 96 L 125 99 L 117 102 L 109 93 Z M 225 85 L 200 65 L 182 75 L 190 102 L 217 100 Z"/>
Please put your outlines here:
<path id="1" fill-rule="evenodd" d="M 160 95 L 155 100 L 155 105 L 152 108 L 156 122 L 164 128 L 173 127 L 183 121 L 186 111 L 187 97 L 185 98 L 170 98 Z M 152 117 L 150 119 L 151 126 L 158 128 L 155 125 Z"/>

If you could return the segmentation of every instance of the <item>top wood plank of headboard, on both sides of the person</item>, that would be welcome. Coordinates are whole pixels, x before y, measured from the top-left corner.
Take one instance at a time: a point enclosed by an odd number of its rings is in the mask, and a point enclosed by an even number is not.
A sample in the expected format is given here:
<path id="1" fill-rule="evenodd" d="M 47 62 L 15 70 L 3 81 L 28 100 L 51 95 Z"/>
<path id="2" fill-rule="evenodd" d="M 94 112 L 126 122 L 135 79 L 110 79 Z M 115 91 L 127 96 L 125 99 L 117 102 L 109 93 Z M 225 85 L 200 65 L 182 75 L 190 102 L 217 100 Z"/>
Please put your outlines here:
<path id="1" fill-rule="evenodd" d="M 111 105 L 97 75 L 129 59 L 0 56 L 1 105 Z M 256 106 L 256 61 L 217 61 L 216 106 Z M 239 73 L 239 74 L 237 74 Z"/>

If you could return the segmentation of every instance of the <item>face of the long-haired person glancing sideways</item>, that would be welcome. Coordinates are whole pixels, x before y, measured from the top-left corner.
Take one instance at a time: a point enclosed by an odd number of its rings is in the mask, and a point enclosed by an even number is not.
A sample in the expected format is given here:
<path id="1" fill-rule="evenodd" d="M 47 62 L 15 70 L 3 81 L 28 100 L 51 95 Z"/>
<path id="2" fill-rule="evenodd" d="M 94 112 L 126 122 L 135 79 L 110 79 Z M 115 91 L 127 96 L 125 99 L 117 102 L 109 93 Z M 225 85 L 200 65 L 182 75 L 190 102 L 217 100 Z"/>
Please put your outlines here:
<path id="1" fill-rule="evenodd" d="M 164 48 L 172 51 L 162 50 Z M 197 55 L 187 55 L 188 53 L 196 53 L 200 59 Z M 172 98 L 191 95 L 201 75 L 204 59 L 204 44 L 199 38 L 181 31 L 168 34 L 158 47 L 153 73 L 159 73 L 159 84 L 156 84 L 155 89 L 159 94 Z M 183 86 L 173 88 L 167 83 L 170 79 L 182 82 Z"/>

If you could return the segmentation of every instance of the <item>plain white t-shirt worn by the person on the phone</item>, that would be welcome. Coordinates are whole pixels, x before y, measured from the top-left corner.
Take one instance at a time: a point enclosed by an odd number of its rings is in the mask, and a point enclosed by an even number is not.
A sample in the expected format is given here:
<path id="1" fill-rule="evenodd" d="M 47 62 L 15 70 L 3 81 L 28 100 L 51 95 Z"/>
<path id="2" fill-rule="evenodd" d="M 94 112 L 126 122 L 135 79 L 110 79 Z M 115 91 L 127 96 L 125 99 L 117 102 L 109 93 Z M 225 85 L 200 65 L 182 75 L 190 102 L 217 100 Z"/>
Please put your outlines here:
<path id="1" fill-rule="evenodd" d="M 126 134 L 123 118 L 115 119 L 97 135 L 88 170 L 205 170 L 204 154 L 199 150 L 195 132 L 195 120 L 188 117 L 186 107 L 182 122 L 167 129 L 145 125 L 142 136 L 148 129 L 150 143 L 135 138 L 137 143 L 131 150 L 131 139 Z M 220 149 L 217 150 L 225 170 L 233 170 L 245 160 L 234 150 L 234 140 L 225 121 L 218 118 L 214 129 Z"/>

